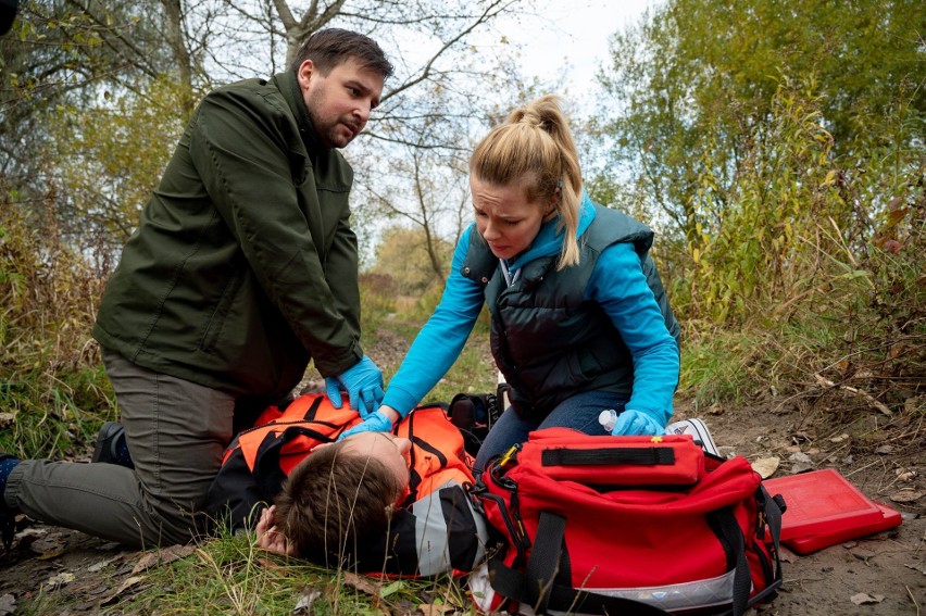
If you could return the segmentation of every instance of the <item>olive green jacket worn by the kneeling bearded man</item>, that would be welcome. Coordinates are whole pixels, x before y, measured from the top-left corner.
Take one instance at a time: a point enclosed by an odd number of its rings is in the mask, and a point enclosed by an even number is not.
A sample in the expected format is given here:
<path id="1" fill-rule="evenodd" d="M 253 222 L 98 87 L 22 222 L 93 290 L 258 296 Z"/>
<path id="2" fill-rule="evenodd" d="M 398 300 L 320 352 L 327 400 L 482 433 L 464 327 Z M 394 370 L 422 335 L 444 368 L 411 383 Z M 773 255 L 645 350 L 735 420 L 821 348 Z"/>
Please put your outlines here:
<path id="1" fill-rule="evenodd" d="M 93 336 L 132 362 L 276 395 L 363 356 L 353 172 L 315 138 L 296 75 L 195 112 L 102 298 Z"/>

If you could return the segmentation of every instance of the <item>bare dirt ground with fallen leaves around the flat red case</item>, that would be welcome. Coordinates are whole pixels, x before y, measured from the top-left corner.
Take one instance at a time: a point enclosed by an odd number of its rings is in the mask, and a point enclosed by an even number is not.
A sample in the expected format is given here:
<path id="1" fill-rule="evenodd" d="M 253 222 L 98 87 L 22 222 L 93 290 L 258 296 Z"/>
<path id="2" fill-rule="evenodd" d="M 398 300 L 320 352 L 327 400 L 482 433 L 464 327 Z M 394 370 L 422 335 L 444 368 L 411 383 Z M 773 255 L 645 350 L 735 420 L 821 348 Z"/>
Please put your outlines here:
<path id="1" fill-rule="evenodd" d="M 805 556 L 783 549 L 784 589 L 759 614 L 926 614 L 926 496 L 922 495 L 926 486 L 926 441 L 922 417 L 919 426 L 885 430 L 881 435 L 885 442 L 876 444 L 868 442 L 876 433 L 872 428 L 876 423 L 884 424 L 885 417 L 878 417 L 875 410 L 847 410 L 851 416 L 840 422 L 833 411 L 828 416 L 818 413 L 814 418 L 809 417 L 808 411 L 775 412 L 775 408 L 769 404 L 699 415 L 683 405 L 676 414 L 690 413 L 703 418 L 722 453 L 744 455 L 753 463 L 779 458 L 774 477 L 788 476 L 798 465 L 836 468 L 865 495 L 901 512 L 903 521 L 896 529 Z M 887 442 L 892 435 L 897 442 Z M 916 494 L 921 496 L 914 502 L 891 500 L 891 496 L 904 499 Z"/>

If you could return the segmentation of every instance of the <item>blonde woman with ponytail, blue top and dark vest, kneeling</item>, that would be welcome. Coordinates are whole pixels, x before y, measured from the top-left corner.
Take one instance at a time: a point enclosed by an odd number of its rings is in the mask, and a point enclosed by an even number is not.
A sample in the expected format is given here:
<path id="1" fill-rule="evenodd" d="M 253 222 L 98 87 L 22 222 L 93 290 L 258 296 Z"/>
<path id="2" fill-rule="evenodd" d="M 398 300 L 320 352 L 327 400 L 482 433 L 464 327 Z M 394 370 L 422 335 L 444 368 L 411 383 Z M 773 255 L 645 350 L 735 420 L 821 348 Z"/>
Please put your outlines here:
<path id="1" fill-rule="evenodd" d="M 553 96 L 513 112 L 470 162 L 476 222 L 461 237 L 440 304 L 392 378 L 383 406 L 353 428 L 389 430 L 456 360 L 483 304 L 511 385 L 475 469 L 552 426 L 663 433 L 678 382 L 678 324 L 648 256 L 653 232 L 595 204 Z"/>

